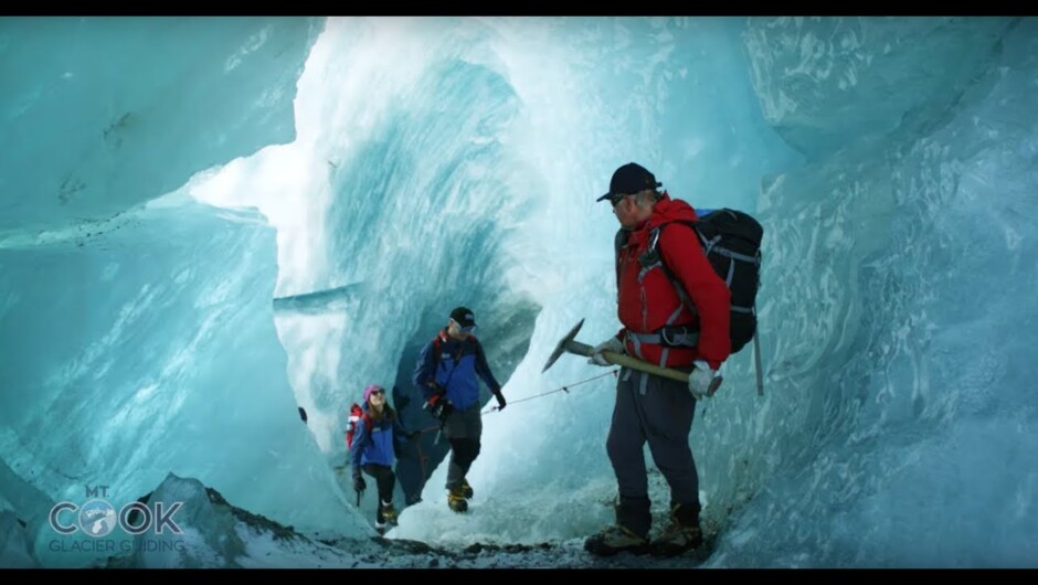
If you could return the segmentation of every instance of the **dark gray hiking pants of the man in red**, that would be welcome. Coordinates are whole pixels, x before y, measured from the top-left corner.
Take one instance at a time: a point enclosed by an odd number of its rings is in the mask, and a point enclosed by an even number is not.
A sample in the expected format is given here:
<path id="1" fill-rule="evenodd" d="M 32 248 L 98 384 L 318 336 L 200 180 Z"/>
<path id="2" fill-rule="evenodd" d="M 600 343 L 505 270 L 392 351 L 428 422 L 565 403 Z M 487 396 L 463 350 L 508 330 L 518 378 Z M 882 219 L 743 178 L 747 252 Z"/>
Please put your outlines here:
<path id="1" fill-rule="evenodd" d="M 688 434 L 696 398 L 688 384 L 624 368 L 616 383 L 616 405 L 605 448 L 619 488 L 617 522 L 638 534 L 652 524 L 645 442 L 670 485 L 670 503 L 699 510 L 699 475 Z"/>

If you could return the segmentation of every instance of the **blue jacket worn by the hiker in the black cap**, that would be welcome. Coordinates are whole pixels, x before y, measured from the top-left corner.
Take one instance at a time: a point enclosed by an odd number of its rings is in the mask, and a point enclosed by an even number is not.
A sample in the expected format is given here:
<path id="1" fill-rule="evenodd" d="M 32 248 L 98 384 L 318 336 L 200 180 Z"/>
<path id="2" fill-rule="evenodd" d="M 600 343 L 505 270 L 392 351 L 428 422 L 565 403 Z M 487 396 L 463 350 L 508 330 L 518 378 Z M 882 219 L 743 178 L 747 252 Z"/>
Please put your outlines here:
<path id="1" fill-rule="evenodd" d="M 479 403 L 479 381 L 490 389 L 490 392 L 498 394 L 501 392 L 501 385 L 497 383 L 494 374 L 490 373 L 490 365 L 487 364 L 487 357 L 483 352 L 483 345 L 475 338 L 469 336 L 465 341 L 452 339 L 445 330 L 439 331 L 439 364 L 435 363 L 434 344 L 435 339 L 422 348 L 419 354 L 419 363 L 414 368 L 414 375 L 411 382 L 419 387 L 426 400 L 436 393 L 431 382 L 436 382 L 447 389 L 446 398 L 458 411 L 464 411 L 473 404 Z"/>

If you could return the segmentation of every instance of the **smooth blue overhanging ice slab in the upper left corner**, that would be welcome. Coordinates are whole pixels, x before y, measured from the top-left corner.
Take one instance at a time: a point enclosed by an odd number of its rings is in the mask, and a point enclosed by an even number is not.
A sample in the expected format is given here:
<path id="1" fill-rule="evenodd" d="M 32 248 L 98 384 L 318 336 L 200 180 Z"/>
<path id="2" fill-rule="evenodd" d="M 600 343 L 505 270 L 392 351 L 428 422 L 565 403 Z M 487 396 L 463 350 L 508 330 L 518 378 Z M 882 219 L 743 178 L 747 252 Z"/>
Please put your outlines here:
<path id="1" fill-rule="evenodd" d="M 0 230 L 102 220 L 292 140 L 295 81 L 320 29 L 320 19 L 4 18 L 0 119 L 18 148 L 0 159 Z"/>

